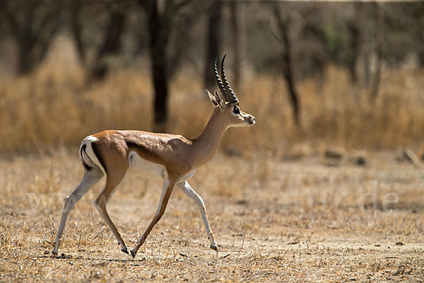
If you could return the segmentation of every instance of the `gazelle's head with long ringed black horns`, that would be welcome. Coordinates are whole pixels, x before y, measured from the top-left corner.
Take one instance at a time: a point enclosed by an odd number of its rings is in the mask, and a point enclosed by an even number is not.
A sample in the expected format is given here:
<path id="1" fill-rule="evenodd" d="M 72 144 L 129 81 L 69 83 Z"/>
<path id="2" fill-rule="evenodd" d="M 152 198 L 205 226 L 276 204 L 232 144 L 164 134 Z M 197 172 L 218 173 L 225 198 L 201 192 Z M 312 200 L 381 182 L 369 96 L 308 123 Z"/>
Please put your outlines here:
<path id="1" fill-rule="evenodd" d="M 217 109 L 220 110 L 220 114 L 225 117 L 228 122 L 228 127 L 250 127 L 254 125 L 254 117 L 240 110 L 240 103 L 235 96 L 234 91 L 230 87 L 224 72 L 224 61 L 220 65 L 220 74 L 218 74 L 218 68 L 216 67 L 216 59 L 213 64 L 213 73 L 215 74 L 215 82 L 218 89 L 213 94 L 208 92 L 211 103 Z"/>

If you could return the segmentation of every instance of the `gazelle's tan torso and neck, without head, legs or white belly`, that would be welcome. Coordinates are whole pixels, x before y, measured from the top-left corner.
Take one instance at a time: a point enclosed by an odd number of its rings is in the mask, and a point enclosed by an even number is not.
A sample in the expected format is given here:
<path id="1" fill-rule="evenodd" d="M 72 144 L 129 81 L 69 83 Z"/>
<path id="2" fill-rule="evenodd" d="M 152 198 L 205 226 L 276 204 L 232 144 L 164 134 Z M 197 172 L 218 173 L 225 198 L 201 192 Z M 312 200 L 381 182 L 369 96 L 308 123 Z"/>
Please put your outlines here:
<path id="1" fill-rule="evenodd" d="M 115 168 L 117 163 L 119 167 L 129 168 L 130 153 L 135 152 L 140 158 L 163 166 L 171 178 L 181 178 L 211 159 L 218 148 L 226 125 L 214 119 L 208 128 L 197 139 L 175 134 L 109 130 L 93 134 L 97 141 L 92 146 L 96 156 L 104 156 L 104 160 L 99 161 L 105 171 L 108 166 Z"/>

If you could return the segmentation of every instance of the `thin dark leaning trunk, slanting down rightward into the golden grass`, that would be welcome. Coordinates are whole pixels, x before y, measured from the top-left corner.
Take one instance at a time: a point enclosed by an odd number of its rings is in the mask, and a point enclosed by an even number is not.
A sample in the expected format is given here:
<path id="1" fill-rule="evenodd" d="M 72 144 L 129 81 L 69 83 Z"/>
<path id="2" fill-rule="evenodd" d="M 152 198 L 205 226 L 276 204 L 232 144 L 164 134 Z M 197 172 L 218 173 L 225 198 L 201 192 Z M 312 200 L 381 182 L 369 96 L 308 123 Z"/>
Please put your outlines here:
<path id="1" fill-rule="evenodd" d="M 276 16 L 278 29 L 280 30 L 281 40 L 283 44 L 282 57 L 283 57 L 283 76 L 287 86 L 288 93 L 290 94 L 290 103 L 293 108 L 293 120 L 295 125 L 300 127 L 300 103 L 298 99 L 298 91 L 295 87 L 295 79 L 293 75 L 292 58 L 291 58 L 291 42 L 288 35 L 288 28 L 290 26 L 290 18 L 288 15 L 281 15 L 278 4 L 273 4 L 273 12 Z"/>

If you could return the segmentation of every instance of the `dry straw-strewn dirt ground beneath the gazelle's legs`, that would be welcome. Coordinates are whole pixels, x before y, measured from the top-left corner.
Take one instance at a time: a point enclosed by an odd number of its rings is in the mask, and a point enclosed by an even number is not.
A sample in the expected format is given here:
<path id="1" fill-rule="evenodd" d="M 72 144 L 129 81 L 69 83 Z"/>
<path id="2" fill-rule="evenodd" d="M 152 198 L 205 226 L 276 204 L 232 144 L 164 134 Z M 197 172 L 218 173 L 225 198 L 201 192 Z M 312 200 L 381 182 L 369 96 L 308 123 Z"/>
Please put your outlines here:
<path id="1" fill-rule="evenodd" d="M 396 153 L 326 158 L 217 154 L 177 189 L 135 259 L 93 207 L 102 182 L 71 212 L 50 252 L 64 197 L 78 185 L 76 151 L 0 160 L 1 282 L 423 282 L 424 171 Z M 336 156 L 333 156 L 336 157 Z M 148 226 L 162 184 L 127 176 L 108 211 L 127 246 Z"/>

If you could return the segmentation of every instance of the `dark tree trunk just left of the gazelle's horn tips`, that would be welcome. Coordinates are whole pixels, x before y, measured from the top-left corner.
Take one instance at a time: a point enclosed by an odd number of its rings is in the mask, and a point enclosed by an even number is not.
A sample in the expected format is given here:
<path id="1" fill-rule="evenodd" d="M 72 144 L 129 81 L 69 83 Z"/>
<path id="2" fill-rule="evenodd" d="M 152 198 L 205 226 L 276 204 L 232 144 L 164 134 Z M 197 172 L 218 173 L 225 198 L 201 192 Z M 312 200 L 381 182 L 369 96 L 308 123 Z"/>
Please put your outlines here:
<path id="1" fill-rule="evenodd" d="M 213 1 L 208 15 L 208 37 L 206 38 L 206 61 L 204 64 L 204 85 L 206 88 L 215 86 L 211 72 L 213 60 L 218 57 L 220 45 L 221 3 Z"/>

